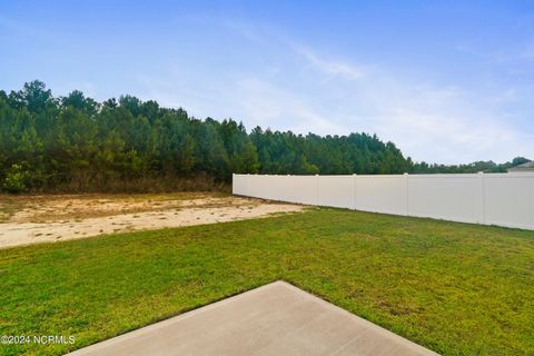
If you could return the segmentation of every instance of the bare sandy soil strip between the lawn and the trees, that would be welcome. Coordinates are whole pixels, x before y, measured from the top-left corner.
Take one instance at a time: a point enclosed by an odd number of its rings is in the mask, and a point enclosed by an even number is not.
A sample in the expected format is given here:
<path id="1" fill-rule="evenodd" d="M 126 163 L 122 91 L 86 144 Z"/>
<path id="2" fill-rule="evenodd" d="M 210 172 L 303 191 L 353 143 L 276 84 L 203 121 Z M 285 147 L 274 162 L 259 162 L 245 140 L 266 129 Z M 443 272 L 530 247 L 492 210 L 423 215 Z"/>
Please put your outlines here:
<path id="1" fill-rule="evenodd" d="M 0 198 L 0 248 L 300 211 L 301 206 L 222 195 Z"/>

